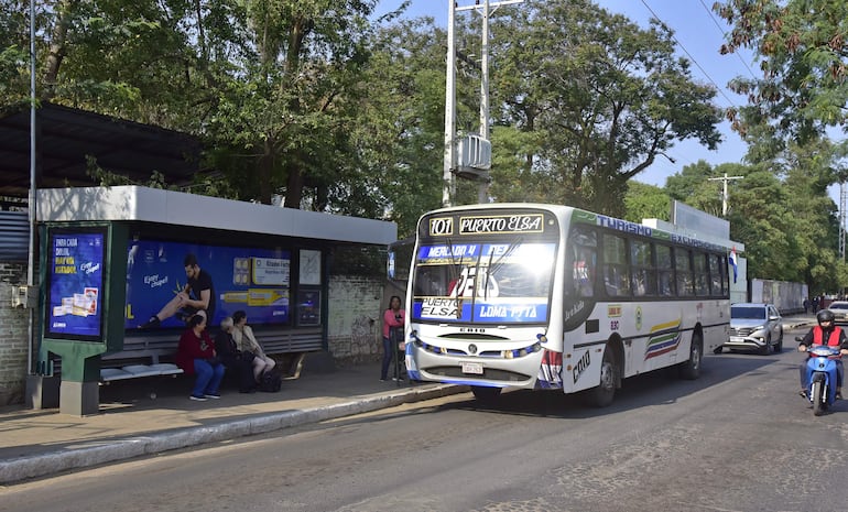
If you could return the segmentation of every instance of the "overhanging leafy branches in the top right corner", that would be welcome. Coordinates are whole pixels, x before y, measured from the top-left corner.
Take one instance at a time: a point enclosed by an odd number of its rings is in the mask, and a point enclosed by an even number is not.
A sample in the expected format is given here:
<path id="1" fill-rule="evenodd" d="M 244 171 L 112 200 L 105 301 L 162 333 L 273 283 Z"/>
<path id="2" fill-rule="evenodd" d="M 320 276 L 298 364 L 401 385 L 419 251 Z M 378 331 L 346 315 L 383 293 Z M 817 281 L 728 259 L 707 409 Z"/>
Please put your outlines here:
<path id="1" fill-rule="evenodd" d="M 714 9 L 732 26 L 721 52 L 751 48 L 763 70 L 762 78 L 731 83 L 750 98 L 749 106 L 731 111 L 740 133 L 768 124 L 770 140 L 780 149 L 783 141 L 814 140 L 828 127 L 845 130 L 848 3 L 730 0 L 716 2 Z"/>

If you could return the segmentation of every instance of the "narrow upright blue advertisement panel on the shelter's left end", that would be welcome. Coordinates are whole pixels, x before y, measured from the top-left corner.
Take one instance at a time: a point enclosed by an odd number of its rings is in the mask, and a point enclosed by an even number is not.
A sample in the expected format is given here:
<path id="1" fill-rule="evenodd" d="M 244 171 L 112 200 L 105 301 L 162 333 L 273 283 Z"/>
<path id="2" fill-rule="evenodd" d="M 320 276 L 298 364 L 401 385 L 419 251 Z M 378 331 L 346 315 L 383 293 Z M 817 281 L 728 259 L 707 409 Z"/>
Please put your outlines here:
<path id="1" fill-rule="evenodd" d="M 48 243 L 47 336 L 99 341 L 105 231 L 52 231 Z"/>

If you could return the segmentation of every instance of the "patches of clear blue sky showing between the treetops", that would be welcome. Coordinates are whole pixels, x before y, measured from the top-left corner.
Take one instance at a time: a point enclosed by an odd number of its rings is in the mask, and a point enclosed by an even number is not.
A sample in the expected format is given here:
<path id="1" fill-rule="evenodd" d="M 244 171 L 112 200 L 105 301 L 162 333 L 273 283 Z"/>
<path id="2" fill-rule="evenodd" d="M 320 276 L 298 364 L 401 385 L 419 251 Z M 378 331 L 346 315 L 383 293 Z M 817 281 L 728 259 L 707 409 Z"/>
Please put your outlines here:
<path id="1" fill-rule="evenodd" d="M 447 26 L 448 1 L 454 0 L 412 0 L 406 10 L 406 18 L 431 15 L 441 26 Z M 659 18 L 675 33 L 677 54 L 693 62 L 692 77 L 696 81 L 713 85 L 717 89 L 714 99 L 722 109 L 741 107 L 746 98 L 728 89 L 727 84 L 737 76 L 751 78 L 757 74 L 759 65 L 750 52 L 721 55 L 719 48 L 725 42 L 725 33 L 729 26 L 718 18 L 710 6 L 714 0 L 595 0 L 608 11 L 624 14 L 631 21 L 649 28 L 649 19 Z M 396 9 L 401 0 L 381 0 L 378 14 Z M 472 6 L 474 0 L 457 0 L 457 6 Z M 490 0 L 490 4 L 496 0 Z M 503 6 L 500 12 L 508 9 L 521 9 L 521 4 Z M 471 11 L 457 12 L 457 17 L 471 17 Z M 479 18 L 479 17 L 477 17 Z M 497 34 L 492 34 L 497 36 Z M 490 58 L 497 59 L 497 55 Z M 664 186 L 665 178 L 678 173 L 685 165 L 704 160 L 711 165 L 721 163 L 741 163 L 746 154 L 746 144 L 739 135 L 732 132 L 727 121 L 718 127 L 722 142 L 715 151 L 708 150 L 697 141 L 678 142 L 666 152 L 676 163 L 659 156 L 656 162 L 635 177 L 637 181 L 656 186 Z"/>

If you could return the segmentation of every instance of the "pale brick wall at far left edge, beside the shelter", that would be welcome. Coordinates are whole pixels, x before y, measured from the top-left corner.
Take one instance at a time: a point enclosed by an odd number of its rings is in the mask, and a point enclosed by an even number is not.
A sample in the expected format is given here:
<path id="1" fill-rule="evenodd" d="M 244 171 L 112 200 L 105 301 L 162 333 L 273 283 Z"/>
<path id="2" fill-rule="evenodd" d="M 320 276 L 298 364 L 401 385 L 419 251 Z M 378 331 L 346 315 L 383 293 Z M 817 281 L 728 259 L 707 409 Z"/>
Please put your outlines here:
<path id="1" fill-rule="evenodd" d="M 29 311 L 12 308 L 12 290 L 26 283 L 26 263 L 0 262 L 0 406 L 23 402 Z"/>

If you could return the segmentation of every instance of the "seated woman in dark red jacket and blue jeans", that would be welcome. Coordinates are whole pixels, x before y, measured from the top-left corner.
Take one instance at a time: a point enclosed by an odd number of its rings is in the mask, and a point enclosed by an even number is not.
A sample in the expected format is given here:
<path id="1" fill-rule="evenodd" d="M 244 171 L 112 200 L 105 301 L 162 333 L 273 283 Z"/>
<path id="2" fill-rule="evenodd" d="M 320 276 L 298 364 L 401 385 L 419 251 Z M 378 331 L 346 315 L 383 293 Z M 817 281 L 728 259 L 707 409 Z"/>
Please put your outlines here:
<path id="1" fill-rule="evenodd" d="M 206 331 L 206 314 L 197 312 L 188 320 L 188 328 L 180 336 L 176 363 L 186 374 L 196 373 L 191 400 L 220 399 L 218 386 L 224 379 L 224 364 L 215 353 L 209 333 Z"/>

